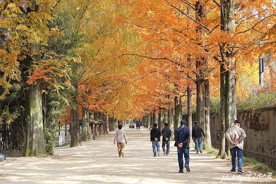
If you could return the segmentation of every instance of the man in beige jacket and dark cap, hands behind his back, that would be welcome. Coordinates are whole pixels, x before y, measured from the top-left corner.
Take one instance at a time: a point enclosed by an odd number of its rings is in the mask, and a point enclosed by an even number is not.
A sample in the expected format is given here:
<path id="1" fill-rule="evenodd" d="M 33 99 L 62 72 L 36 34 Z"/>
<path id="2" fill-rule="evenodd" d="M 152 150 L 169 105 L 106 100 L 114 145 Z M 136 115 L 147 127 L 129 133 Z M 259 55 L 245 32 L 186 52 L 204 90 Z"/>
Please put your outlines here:
<path id="1" fill-rule="evenodd" d="M 242 166 L 242 150 L 244 149 L 244 138 L 246 137 L 246 134 L 244 132 L 244 129 L 240 128 L 241 121 L 235 120 L 234 126 L 229 128 L 226 133 L 225 137 L 228 141 L 229 150 L 231 152 L 231 161 L 232 161 L 232 169 L 230 172 L 232 173 L 239 173 L 244 174 L 241 171 Z M 238 159 L 238 171 L 236 171 L 236 153 L 237 153 L 237 159 Z"/>

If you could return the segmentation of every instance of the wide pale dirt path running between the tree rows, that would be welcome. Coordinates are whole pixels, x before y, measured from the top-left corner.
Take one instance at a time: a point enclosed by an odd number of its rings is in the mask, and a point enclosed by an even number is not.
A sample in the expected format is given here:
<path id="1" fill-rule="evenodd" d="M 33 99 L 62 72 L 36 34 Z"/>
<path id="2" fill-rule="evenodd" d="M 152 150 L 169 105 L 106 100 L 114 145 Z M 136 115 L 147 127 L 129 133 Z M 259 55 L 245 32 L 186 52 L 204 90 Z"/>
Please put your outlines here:
<path id="1" fill-rule="evenodd" d="M 173 141 L 169 156 L 161 154 L 159 157 L 153 157 L 149 130 L 143 127 L 141 130 L 129 129 L 128 126 L 123 129 L 128 139 L 124 157 L 118 157 L 117 147 L 113 144 L 115 131 L 112 131 L 97 140 L 82 142 L 82 146 L 56 147 L 57 156 L 17 158 L 0 166 L 0 183 L 276 183 L 275 179 L 248 176 L 253 172 L 248 168 L 243 168 L 244 175 L 230 173 L 230 161 L 214 159 L 214 156 L 204 152 L 195 154 L 191 151 L 191 172 L 187 173 L 184 169 L 184 173 L 178 173 L 177 151 L 176 147 L 173 147 Z M 162 153 L 161 146 L 160 150 Z"/>

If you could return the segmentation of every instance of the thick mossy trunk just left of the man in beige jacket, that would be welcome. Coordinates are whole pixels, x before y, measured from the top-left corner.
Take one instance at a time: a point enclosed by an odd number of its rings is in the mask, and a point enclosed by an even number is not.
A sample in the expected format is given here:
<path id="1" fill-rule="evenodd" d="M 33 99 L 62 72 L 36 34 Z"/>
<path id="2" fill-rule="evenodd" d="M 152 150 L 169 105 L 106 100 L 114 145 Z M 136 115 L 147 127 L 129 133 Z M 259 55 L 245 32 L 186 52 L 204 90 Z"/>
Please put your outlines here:
<path id="1" fill-rule="evenodd" d="M 231 34 L 235 26 L 234 0 L 221 1 L 221 31 Z M 218 158 L 228 158 L 228 145 L 225 145 L 225 132 L 237 118 L 236 108 L 236 56 L 233 52 L 234 44 L 220 43 L 222 62 L 221 72 L 221 145 Z"/>

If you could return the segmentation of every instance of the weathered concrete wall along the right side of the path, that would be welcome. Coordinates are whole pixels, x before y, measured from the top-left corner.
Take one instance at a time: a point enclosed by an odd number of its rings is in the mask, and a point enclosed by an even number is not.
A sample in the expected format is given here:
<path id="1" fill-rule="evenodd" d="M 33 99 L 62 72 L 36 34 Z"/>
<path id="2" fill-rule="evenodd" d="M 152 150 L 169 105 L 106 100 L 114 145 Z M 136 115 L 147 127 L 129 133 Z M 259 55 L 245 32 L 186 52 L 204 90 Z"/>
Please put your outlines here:
<path id="1" fill-rule="evenodd" d="M 254 157 L 276 169 L 276 107 L 260 108 L 254 111 L 237 112 L 241 128 L 246 133 L 243 154 Z M 212 146 L 219 148 L 220 119 L 210 114 L 210 131 Z"/>

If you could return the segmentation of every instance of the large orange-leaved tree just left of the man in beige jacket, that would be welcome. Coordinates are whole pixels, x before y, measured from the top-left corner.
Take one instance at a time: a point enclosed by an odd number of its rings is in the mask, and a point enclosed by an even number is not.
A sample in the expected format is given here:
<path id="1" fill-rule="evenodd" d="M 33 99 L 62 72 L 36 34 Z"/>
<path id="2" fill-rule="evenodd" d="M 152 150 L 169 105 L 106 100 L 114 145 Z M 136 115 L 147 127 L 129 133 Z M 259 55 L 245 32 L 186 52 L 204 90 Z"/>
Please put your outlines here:
<path id="1" fill-rule="evenodd" d="M 167 1 L 171 6 L 181 11 L 183 15 L 196 22 L 199 26 L 206 29 L 205 45 L 208 41 L 215 41 L 215 44 L 210 44 L 213 48 L 219 49 L 218 56 L 214 51 L 214 60 L 217 60 L 220 65 L 220 97 L 221 97 L 221 147 L 219 156 L 226 158 L 225 154 L 225 130 L 231 127 L 236 119 L 236 65 L 243 64 L 244 60 L 254 62 L 254 59 L 259 56 L 259 53 L 254 53 L 254 47 L 266 45 L 269 39 L 264 40 L 262 35 L 264 30 L 269 28 L 269 21 L 275 22 L 275 5 L 272 1 L 221 1 L 217 3 L 201 1 L 202 6 L 210 7 L 212 12 L 205 20 L 208 24 L 199 22 L 187 13 L 174 6 Z M 214 4 L 213 4 L 214 3 Z M 192 3 L 193 4 L 193 3 Z M 220 16 L 217 12 L 220 11 Z M 209 20 L 208 20 L 209 19 Z M 202 20 L 202 19 L 201 19 Z M 219 24 L 214 24 L 214 20 L 220 20 Z M 206 22 L 205 21 L 205 22 Z M 211 53 L 212 47 L 205 47 L 207 53 Z M 259 50 L 260 51 L 260 50 Z M 237 60 L 238 58 L 238 60 Z M 254 59 L 252 59 L 254 58 Z M 226 150 L 228 151 L 228 149 Z"/>

